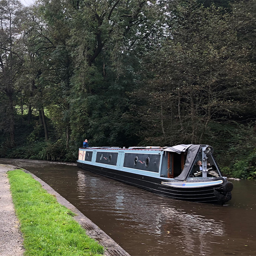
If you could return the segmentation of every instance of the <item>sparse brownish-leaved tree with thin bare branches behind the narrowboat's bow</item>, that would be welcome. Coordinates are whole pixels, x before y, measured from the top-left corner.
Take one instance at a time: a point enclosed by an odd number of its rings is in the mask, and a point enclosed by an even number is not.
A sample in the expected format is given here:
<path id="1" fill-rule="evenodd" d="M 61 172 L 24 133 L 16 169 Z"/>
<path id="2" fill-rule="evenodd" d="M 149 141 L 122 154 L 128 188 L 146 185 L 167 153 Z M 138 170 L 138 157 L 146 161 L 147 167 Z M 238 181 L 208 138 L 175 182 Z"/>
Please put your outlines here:
<path id="1" fill-rule="evenodd" d="M 147 73 L 146 91 L 140 93 L 146 101 L 143 120 L 151 127 L 143 133 L 145 140 L 154 138 L 160 145 L 203 143 L 212 136 L 210 123 L 233 110 L 230 92 L 239 70 L 235 33 L 215 6 L 177 2 L 170 13 L 169 36 L 145 59 L 150 64 L 143 71 L 153 74 Z"/>

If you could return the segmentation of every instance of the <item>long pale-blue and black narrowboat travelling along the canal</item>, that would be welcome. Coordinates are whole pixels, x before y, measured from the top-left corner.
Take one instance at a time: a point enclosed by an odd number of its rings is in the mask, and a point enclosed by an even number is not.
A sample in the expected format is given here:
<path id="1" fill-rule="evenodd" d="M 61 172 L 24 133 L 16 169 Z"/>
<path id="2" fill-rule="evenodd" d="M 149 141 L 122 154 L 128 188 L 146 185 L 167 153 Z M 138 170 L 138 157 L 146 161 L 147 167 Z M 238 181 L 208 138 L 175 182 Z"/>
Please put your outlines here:
<path id="1" fill-rule="evenodd" d="M 79 148 L 77 166 L 167 197 L 224 204 L 233 183 L 221 175 L 209 145 Z"/>

